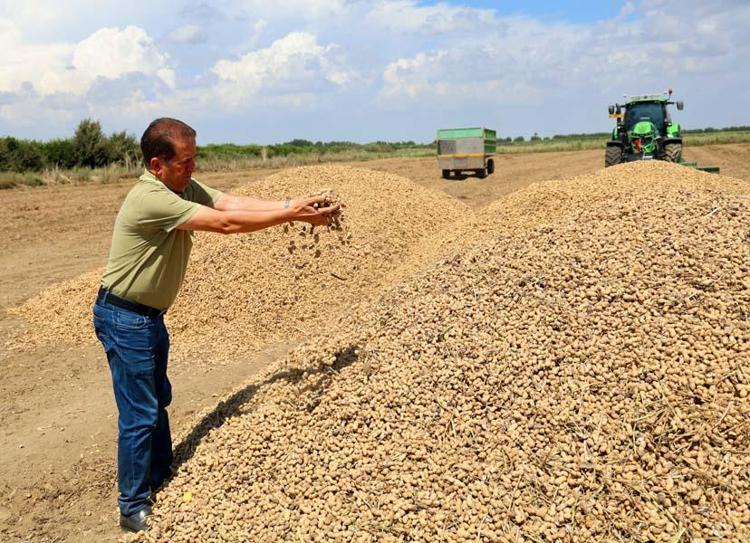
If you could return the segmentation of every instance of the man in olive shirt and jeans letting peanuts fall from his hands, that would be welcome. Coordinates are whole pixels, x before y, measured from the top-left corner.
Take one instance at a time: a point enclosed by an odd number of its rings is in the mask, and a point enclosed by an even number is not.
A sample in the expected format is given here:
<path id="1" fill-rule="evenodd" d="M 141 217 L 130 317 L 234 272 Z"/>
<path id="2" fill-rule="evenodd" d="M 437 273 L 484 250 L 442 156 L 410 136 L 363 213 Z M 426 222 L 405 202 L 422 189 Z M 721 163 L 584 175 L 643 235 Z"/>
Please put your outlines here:
<path id="1" fill-rule="evenodd" d="M 326 225 L 338 209 L 316 207 L 324 205 L 323 196 L 265 201 L 199 183 L 192 178 L 195 130 L 176 119 L 153 121 L 143 133 L 141 150 L 146 172 L 115 220 L 93 308 L 119 411 L 120 526 L 131 531 L 147 528 L 151 493 L 172 473 L 164 313 L 184 278 L 192 231 L 253 232 L 288 221 Z"/>

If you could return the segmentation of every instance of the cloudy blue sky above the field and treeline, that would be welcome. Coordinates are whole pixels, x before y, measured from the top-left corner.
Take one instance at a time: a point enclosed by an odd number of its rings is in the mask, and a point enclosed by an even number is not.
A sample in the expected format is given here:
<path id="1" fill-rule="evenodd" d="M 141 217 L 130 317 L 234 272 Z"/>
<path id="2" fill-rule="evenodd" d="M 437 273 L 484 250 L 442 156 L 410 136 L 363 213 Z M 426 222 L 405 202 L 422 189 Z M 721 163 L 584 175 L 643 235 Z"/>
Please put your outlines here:
<path id="1" fill-rule="evenodd" d="M 683 126 L 750 124 L 746 0 L 0 0 L 0 51 L 0 136 L 159 116 L 199 143 L 554 135 L 668 87 Z"/>

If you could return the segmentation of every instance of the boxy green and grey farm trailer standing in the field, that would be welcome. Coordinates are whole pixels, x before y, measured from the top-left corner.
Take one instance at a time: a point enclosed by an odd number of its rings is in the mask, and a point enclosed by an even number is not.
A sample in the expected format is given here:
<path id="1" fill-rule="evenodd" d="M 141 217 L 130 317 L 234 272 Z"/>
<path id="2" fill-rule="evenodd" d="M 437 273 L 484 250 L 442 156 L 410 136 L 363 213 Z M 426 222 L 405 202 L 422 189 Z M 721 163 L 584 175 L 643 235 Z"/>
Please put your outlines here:
<path id="1" fill-rule="evenodd" d="M 497 135 L 489 128 L 442 128 L 437 133 L 438 167 L 443 179 L 473 172 L 484 179 L 495 171 Z"/>

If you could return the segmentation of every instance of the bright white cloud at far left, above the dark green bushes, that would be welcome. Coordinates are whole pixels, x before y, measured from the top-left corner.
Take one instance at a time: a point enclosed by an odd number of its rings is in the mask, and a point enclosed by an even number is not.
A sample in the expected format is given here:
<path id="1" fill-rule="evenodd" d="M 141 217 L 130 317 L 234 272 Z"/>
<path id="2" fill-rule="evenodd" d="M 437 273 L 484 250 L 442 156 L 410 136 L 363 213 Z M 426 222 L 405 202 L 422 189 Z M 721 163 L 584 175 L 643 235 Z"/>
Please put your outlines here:
<path id="1" fill-rule="evenodd" d="M 136 116 L 175 88 L 169 57 L 139 27 L 102 28 L 79 43 L 33 43 L 3 20 L 0 31 L 0 119 L 21 130 Z"/>

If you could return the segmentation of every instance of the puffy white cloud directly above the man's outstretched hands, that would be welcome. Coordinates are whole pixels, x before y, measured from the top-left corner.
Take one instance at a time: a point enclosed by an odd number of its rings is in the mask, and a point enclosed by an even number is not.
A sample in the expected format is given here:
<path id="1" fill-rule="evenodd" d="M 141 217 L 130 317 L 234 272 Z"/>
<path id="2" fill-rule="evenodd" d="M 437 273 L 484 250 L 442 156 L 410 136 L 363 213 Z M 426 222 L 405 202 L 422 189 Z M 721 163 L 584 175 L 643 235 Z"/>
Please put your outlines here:
<path id="1" fill-rule="evenodd" d="M 220 60 L 212 71 L 217 91 L 231 105 L 261 93 L 296 97 L 292 103 L 299 104 L 302 95 L 344 87 L 354 77 L 338 46 L 319 45 L 307 32 L 293 32 L 237 60 Z"/>

